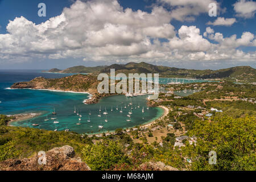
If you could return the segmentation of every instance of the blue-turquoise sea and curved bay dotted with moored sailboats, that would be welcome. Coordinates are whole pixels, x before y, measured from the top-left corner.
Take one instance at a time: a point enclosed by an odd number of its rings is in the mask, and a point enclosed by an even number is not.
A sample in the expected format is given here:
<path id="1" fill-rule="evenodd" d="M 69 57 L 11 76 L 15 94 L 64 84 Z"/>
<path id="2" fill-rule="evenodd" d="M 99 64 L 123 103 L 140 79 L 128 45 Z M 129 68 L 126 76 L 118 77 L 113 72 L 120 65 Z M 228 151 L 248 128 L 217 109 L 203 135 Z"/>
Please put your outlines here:
<path id="1" fill-rule="evenodd" d="M 146 109 L 146 97 L 137 96 L 127 98 L 125 96 L 111 96 L 102 98 L 98 104 L 85 105 L 84 100 L 89 98 L 89 94 L 84 93 L 66 93 L 52 92 L 48 90 L 31 90 L 31 89 L 7 89 L 14 82 L 29 81 L 35 77 L 43 76 L 46 78 L 59 78 L 72 74 L 43 73 L 40 71 L 0 71 L 0 114 L 19 114 L 19 113 L 42 113 L 39 117 L 29 119 L 28 121 L 13 122 L 13 126 L 35 127 L 46 130 L 65 130 L 75 131 L 77 133 L 98 133 L 99 131 L 112 131 L 117 128 L 127 128 L 141 125 L 152 119 L 158 118 L 163 114 L 163 109 L 159 107 L 150 107 Z M 123 104 L 122 104 L 123 102 Z M 131 121 L 127 122 L 128 109 L 123 108 L 123 113 L 119 113 L 121 106 L 133 103 L 134 109 L 131 114 Z M 135 109 L 135 105 L 140 108 Z M 79 116 L 73 113 L 74 106 L 81 110 L 81 125 Z M 98 117 L 101 107 L 102 117 Z M 106 117 L 103 111 L 108 111 Z M 113 111 L 111 110 L 113 107 Z M 116 110 L 118 107 L 118 110 Z M 144 107 L 144 113 L 142 113 Z M 55 108 L 56 115 L 52 115 Z M 88 117 L 90 115 L 90 121 Z M 44 121 L 48 115 L 49 121 Z M 54 124 L 51 117 L 57 118 L 59 123 Z M 108 122 L 105 122 L 108 119 Z M 40 126 L 32 126 L 38 124 Z M 102 125 L 103 129 L 99 130 L 98 125 Z"/>

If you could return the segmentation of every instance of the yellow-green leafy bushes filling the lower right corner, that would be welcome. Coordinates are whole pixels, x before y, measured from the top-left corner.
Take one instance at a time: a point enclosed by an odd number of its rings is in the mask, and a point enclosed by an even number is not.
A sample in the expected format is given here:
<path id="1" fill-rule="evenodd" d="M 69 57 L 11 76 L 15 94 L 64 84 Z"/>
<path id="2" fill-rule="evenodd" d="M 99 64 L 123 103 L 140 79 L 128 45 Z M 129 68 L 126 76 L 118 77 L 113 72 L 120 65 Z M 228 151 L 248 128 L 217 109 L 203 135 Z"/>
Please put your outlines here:
<path id="1" fill-rule="evenodd" d="M 199 120 L 189 131 L 197 143 L 184 147 L 193 170 L 255 170 L 255 117 Z M 209 151 L 216 151 L 217 164 L 208 163 Z"/>

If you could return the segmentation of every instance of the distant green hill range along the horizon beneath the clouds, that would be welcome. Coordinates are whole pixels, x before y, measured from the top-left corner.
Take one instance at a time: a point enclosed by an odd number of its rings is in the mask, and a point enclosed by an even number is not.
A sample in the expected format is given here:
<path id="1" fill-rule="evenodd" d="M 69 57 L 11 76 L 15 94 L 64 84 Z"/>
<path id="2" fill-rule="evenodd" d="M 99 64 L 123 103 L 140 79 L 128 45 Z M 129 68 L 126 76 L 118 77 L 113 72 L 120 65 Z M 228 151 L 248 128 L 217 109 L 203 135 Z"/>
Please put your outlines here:
<path id="1" fill-rule="evenodd" d="M 110 69 L 115 69 L 115 73 L 159 73 L 160 77 L 179 77 L 179 78 L 196 78 L 196 79 L 226 79 L 236 82 L 256 82 L 256 69 L 249 66 L 240 66 L 226 69 L 218 69 L 216 71 L 205 69 L 180 69 L 174 67 L 166 67 L 153 65 L 148 63 L 127 63 L 112 64 L 110 66 L 84 67 L 77 66 L 60 70 L 57 68 L 43 72 L 51 73 L 88 73 L 97 76 L 98 73 L 110 73 Z"/>

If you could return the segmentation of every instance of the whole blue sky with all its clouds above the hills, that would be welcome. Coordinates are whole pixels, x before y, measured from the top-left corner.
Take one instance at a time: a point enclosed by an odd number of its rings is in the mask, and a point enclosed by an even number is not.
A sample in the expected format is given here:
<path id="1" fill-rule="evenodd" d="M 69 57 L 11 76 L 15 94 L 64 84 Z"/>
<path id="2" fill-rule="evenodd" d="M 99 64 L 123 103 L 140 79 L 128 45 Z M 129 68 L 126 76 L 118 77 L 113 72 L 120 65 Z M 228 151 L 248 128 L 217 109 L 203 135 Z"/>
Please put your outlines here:
<path id="1" fill-rule="evenodd" d="M 0 0 L 0 69 L 256 68 L 255 13 L 251 0 Z"/>

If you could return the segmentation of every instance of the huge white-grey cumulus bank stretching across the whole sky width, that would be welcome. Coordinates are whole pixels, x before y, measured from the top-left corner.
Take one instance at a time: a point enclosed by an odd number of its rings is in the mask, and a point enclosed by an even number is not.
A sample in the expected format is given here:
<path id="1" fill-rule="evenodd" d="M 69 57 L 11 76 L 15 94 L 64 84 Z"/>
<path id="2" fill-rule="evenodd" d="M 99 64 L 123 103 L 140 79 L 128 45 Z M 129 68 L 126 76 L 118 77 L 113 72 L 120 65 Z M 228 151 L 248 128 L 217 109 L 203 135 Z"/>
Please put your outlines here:
<path id="1" fill-rule="evenodd" d="M 169 1 L 178 7 L 187 7 L 188 2 L 203 9 L 208 0 Z M 172 15 L 173 11 L 161 6 L 155 6 L 147 13 L 123 9 L 117 0 L 76 1 L 59 16 L 41 24 L 23 16 L 10 20 L 7 34 L 0 34 L 0 61 L 69 57 L 118 63 L 255 61 L 255 53 L 237 51 L 240 46 L 255 46 L 254 34 L 244 32 L 241 38 L 236 35 L 224 38 L 220 32 L 214 34 L 214 30 L 207 27 L 203 37 L 196 26 L 181 26 L 175 30 L 170 23 Z"/>

